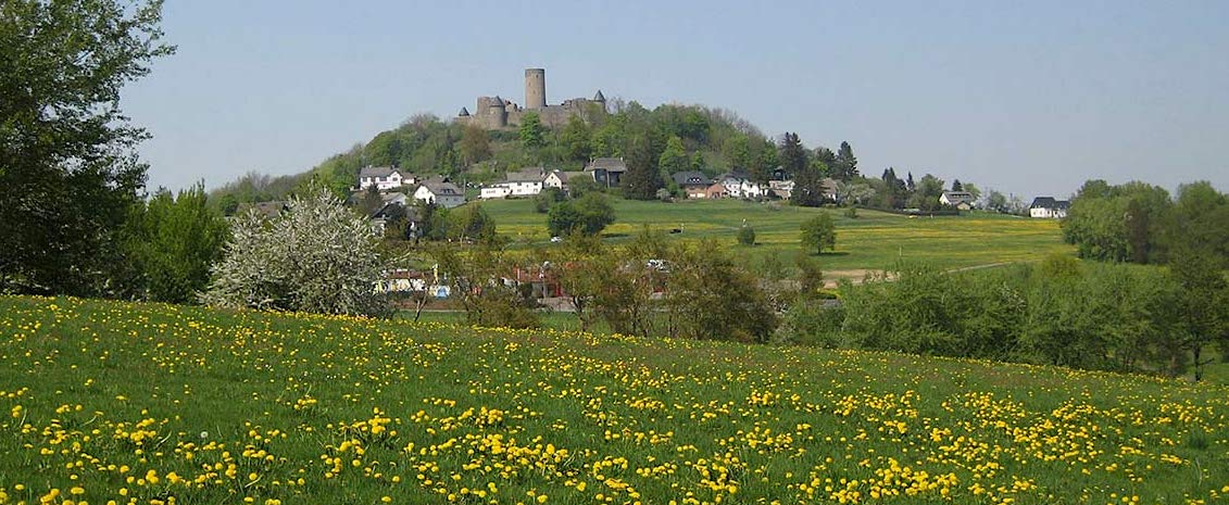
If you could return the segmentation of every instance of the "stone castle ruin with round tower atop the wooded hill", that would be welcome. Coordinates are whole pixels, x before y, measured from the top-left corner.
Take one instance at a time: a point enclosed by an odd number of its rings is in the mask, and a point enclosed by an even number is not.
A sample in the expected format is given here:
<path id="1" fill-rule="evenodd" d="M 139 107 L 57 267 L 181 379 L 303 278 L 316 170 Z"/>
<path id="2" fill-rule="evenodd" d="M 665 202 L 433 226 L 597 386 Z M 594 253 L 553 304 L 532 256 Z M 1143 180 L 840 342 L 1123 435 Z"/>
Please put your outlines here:
<path id="1" fill-rule="evenodd" d="M 521 124 L 525 113 L 536 112 L 542 118 L 542 124 L 557 128 L 568 123 L 573 114 L 584 114 L 590 111 L 606 112 L 606 97 L 597 90 L 594 98 L 565 100 L 558 106 L 546 103 L 546 69 L 525 69 L 525 107 L 499 96 L 478 97 L 473 114 L 465 107 L 457 113 L 457 122 L 462 124 L 476 124 L 488 130 L 512 128 Z"/>

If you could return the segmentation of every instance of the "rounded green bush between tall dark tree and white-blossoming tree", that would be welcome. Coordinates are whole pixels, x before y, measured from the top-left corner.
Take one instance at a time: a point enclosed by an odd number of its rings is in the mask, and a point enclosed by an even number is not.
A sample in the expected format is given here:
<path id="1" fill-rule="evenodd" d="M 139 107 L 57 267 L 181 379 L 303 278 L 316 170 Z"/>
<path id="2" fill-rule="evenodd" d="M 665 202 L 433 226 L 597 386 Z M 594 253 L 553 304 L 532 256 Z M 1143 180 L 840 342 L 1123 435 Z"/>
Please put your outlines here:
<path id="1" fill-rule="evenodd" d="M 230 226 L 209 209 L 203 184 L 159 190 L 138 203 L 124 226 L 124 258 L 136 278 L 132 294 L 143 300 L 190 303 L 209 284 L 209 268 L 221 259 Z"/>

